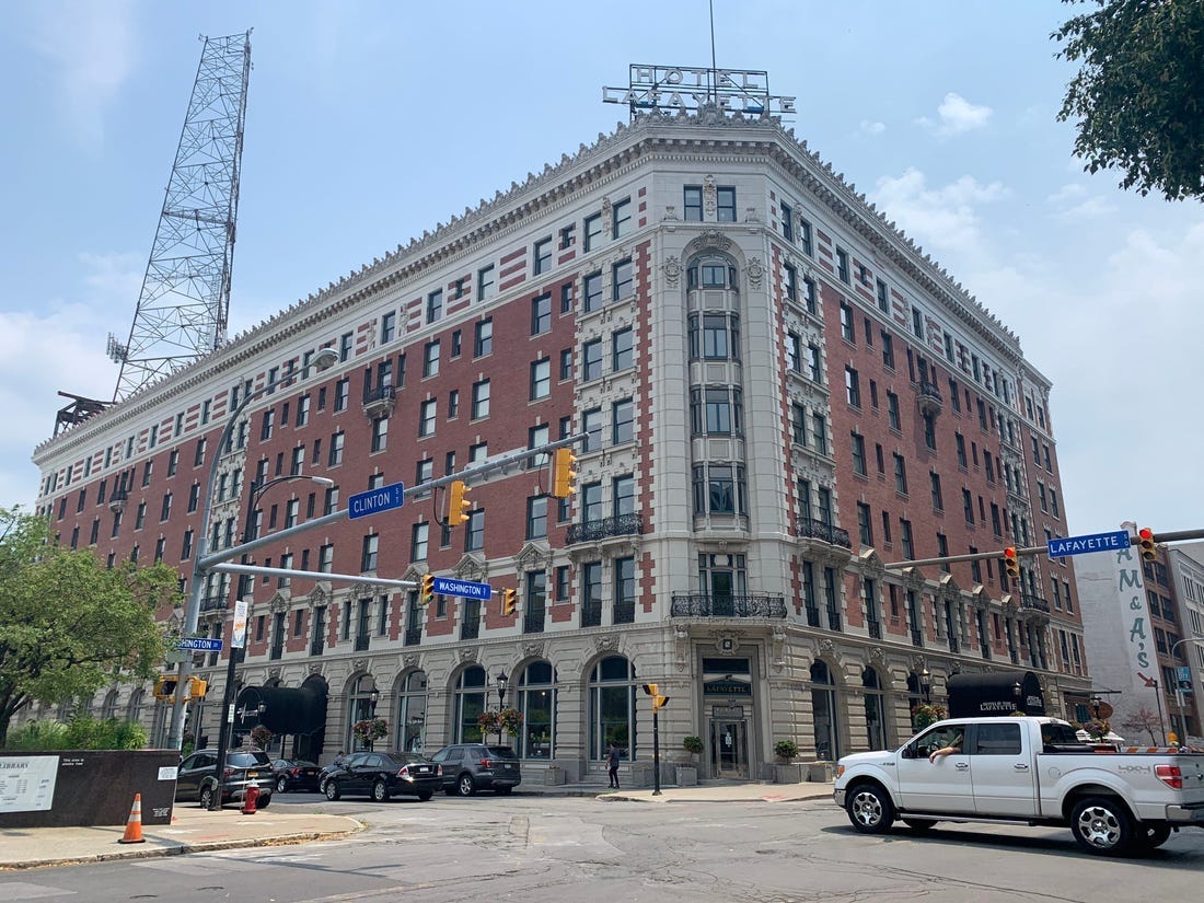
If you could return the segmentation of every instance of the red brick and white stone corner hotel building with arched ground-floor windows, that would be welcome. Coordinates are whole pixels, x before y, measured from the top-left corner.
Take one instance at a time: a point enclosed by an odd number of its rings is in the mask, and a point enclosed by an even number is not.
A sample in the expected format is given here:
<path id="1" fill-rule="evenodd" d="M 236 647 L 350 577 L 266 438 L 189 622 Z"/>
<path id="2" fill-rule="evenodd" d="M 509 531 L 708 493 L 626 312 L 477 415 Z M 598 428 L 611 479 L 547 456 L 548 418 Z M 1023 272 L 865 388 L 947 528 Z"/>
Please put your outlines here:
<path id="1" fill-rule="evenodd" d="M 238 399 L 334 347 L 341 362 Z M 443 492 L 264 550 L 260 563 L 455 576 L 497 602 L 337 580 L 209 578 L 202 630 L 250 602 L 247 686 L 318 686 L 329 759 L 350 724 L 393 745 L 470 737 L 496 675 L 509 738 L 571 778 L 610 739 L 651 756 L 643 683 L 671 697 L 666 759 L 704 740 L 708 777 L 757 777 L 775 740 L 831 760 L 909 734 L 957 671 L 1033 669 L 1054 714 L 1090 680 L 1068 561 L 898 571 L 890 562 L 1064 533 L 1050 383 L 952 277 L 773 118 L 650 113 L 563 157 L 47 441 L 40 510 L 60 539 L 190 574 L 212 455 L 211 548 L 376 485 L 586 433 L 578 491 L 547 467 Z M 336 486 L 315 486 L 306 477 Z M 496 600 L 496 596 L 495 596 Z M 178 618 L 178 613 L 176 615 Z M 224 657 L 201 673 L 211 700 Z M 373 700 L 376 691 L 377 701 Z M 147 720 L 146 687 L 99 708 Z M 212 702 L 191 725 L 214 733 Z"/>

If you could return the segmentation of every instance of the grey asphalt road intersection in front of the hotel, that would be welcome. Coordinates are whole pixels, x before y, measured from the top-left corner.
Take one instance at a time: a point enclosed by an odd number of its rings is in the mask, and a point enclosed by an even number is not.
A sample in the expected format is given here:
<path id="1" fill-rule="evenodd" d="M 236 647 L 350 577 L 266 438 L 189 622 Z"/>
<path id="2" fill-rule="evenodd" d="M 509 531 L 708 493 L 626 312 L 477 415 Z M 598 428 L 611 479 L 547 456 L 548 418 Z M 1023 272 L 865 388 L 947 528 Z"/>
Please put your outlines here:
<path id="1" fill-rule="evenodd" d="M 922 898 L 1196 899 L 1204 831 L 1141 860 L 1080 852 L 1069 831 L 852 831 L 824 799 L 635 803 L 482 795 L 385 804 L 289 793 L 368 825 L 341 840 L 0 874 L 0 899 L 202 903 L 854 903 Z M 265 811 L 264 815 L 270 815 Z"/>

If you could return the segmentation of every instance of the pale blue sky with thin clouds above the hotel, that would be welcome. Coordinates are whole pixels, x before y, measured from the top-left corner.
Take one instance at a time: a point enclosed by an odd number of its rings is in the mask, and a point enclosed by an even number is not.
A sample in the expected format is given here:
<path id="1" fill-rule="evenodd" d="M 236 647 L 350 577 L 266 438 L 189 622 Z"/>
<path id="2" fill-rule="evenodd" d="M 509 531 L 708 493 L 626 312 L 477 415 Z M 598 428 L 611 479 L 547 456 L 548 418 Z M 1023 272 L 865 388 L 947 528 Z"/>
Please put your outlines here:
<path id="1" fill-rule="evenodd" d="M 714 0 L 720 67 L 1054 380 L 1072 532 L 1204 515 L 1204 205 L 1120 191 L 1056 122 L 1057 0 Z M 707 0 L 0 5 L 0 504 L 65 390 L 112 396 L 201 53 L 254 29 L 231 335 L 609 132 L 632 63 L 707 66 Z"/>

